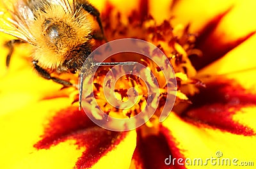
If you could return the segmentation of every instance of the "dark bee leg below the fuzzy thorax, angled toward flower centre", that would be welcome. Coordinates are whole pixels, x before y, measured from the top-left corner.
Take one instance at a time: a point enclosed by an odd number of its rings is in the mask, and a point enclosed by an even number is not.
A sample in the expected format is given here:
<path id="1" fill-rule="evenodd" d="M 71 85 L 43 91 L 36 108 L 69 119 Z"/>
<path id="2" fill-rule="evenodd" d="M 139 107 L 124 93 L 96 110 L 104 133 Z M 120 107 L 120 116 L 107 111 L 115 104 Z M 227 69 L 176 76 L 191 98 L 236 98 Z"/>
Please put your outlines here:
<path id="1" fill-rule="evenodd" d="M 44 70 L 43 68 L 41 68 L 40 66 L 38 66 L 37 64 L 38 61 L 33 61 L 33 65 L 34 65 L 34 68 L 35 70 L 38 72 L 38 74 L 47 79 L 47 80 L 52 80 L 58 84 L 62 84 L 64 87 L 70 87 L 70 86 L 73 86 L 72 83 L 68 82 L 67 80 L 63 80 L 63 79 L 60 79 L 60 78 L 56 78 L 56 77 L 51 77 L 51 74 L 48 73 L 46 70 Z"/>

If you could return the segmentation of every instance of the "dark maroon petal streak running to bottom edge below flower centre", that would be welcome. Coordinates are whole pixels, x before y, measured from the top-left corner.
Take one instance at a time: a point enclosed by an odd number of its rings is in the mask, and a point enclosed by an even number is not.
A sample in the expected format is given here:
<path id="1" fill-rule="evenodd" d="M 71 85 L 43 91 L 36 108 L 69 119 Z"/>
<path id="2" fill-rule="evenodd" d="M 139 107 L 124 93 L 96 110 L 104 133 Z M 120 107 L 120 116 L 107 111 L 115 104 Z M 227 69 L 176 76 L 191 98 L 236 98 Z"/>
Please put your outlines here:
<path id="1" fill-rule="evenodd" d="M 169 158 L 170 155 L 172 158 L 177 158 L 177 156 L 173 156 L 173 152 L 170 151 L 167 140 L 162 134 L 150 135 L 145 138 L 138 136 L 135 152 L 137 160 L 143 163 L 144 168 L 147 169 L 184 168 L 184 166 L 177 165 L 177 163 L 174 165 L 166 165 L 164 163 L 164 160 Z M 139 159 L 138 156 L 140 156 Z"/>

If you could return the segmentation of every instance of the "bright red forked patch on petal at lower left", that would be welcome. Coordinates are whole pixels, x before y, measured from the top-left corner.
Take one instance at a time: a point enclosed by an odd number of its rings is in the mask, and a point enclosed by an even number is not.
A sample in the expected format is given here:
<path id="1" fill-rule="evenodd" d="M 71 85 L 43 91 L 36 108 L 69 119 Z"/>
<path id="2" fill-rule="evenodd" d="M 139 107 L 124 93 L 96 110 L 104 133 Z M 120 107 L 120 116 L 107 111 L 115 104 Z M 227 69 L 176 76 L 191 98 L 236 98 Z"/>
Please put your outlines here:
<path id="1" fill-rule="evenodd" d="M 90 168 L 125 136 L 125 132 L 118 133 L 95 126 L 83 111 L 69 107 L 52 117 L 45 126 L 42 139 L 34 147 L 49 149 L 67 140 L 76 140 L 78 148 L 86 148 L 77 159 L 76 168 Z"/>

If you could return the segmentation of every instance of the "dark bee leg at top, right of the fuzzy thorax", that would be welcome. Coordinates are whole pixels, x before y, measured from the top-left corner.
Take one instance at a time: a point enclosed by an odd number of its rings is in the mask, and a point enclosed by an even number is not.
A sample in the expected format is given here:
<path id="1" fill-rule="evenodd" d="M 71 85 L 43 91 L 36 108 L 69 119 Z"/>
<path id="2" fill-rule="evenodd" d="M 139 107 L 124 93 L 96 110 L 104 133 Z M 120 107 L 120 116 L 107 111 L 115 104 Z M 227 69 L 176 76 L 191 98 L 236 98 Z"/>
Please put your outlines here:
<path id="1" fill-rule="evenodd" d="M 96 17 L 96 20 L 97 20 L 97 22 L 99 24 L 102 36 L 97 36 L 97 35 L 93 34 L 92 35 L 93 39 L 108 41 L 107 38 L 104 35 L 104 31 L 103 31 L 102 22 L 101 22 L 101 19 L 100 19 L 100 12 L 99 12 L 99 10 L 97 10 L 97 8 L 95 8 L 92 4 L 90 4 L 88 2 L 83 3 L 82 7 L 83 7 L 84 10 L 88 11 L 88 13 L 93 15 L 93 17 Z"/>

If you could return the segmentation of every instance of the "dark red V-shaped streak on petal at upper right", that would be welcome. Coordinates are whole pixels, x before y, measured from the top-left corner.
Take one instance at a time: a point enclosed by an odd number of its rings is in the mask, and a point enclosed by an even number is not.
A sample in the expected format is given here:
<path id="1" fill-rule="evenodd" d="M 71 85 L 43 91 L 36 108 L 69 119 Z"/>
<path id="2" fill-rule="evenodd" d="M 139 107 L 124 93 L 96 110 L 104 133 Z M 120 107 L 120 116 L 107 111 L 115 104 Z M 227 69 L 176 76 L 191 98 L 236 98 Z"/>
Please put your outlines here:
<path id="1" fill-rule="evenodd" d="M 221 15 L 216 16 L 211 20 L 203 29 L 200 31 L 198 38 L 196 39 L 195 48 L 198 48 L 202 51 L 203 56 L 198 57 L 197 55 L 191 55 L 189 58 L 196 70 L 204 68 L 211 62 L 216 61 L 227 54 L 233 48 L 236 48 L 238 45 L 243 43 L 243 41 L 248 40 L 255 32 L 247 34 L 244 37 L 239 38 L 236 41 L 230 41 L 229 43 L 223 43 L 221 41 L 222 36 L 216 36 L 214 31 L 220 24 L 221 19 L 227 15 L 227 13 L 232 10 L 232 7 L 229 8 Z"/>

